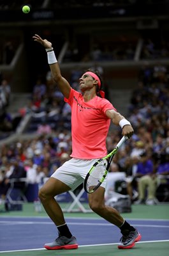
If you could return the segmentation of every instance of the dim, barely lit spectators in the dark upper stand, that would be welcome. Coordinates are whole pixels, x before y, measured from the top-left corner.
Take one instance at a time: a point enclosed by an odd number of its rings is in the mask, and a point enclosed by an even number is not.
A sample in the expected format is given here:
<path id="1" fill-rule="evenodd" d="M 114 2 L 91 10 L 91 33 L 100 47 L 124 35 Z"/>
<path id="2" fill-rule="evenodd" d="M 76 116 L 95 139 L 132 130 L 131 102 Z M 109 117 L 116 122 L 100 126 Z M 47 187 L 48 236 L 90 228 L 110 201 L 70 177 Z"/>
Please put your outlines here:
<path id="1" fill-rule="evenodd" d="M 109 33 L 112 33 L 110 31 Z M 157 31 L 158 35 L 158 31 Z M 140 32 L 139 35 L 112 35 L 109 40 L 101 33 L 90 40 L 79 44 L 78 40 L 69 40 L 68 49 L 64 53 L 63 63 L 79 61 L 124 61 L 134 60 L 138 44 L 142 40 L 139 60 L 158 60 L 169 58 L 168 36 L 149 37 Z M 18 36 L 0 40 L 0 65 L 10 65 L 20 44 Z"/>

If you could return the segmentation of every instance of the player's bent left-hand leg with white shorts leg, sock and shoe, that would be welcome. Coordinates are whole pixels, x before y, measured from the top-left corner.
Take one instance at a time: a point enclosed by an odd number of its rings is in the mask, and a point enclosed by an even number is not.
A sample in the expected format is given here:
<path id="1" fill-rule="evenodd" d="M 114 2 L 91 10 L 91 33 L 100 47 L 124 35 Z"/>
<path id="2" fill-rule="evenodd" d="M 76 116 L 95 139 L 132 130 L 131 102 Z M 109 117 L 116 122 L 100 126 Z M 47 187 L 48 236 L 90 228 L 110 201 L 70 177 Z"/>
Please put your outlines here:
<path id="1" fill-rule="evenodd" d="M 59 249 L 77 249 L 77 239 L 72 236 L 70 229 L 68 228 L 62 209 L 55 200 L 55 196 L 66 191 L 69 191 L 71 184 L 76 181 L 75 177 L 72 177 L 66 172 L 65 166 L 71 165 L 70 163 L 64 164 L 61 168 L 57 169 L 52 177 L 43 185 L 40 189 L 40 200 L 47 212 L 48 216 L 54 221 L 57 230 L 59 231 L 59 237 L 52 243 L 45 244 L 45 248 L 48 250 Z M 70 184 L 70 186 L 68 186 Z"/>

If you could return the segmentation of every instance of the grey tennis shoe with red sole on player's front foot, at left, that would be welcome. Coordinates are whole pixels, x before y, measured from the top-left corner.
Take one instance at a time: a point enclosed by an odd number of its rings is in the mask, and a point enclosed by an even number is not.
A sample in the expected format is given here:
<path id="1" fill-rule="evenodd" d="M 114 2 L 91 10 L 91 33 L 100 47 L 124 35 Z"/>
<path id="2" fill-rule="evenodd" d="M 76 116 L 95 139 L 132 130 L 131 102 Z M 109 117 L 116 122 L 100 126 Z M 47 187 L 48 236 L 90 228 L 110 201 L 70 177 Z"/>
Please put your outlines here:
<path id="1" fill-rule="evenodd" d="M 52 243 L 47 243 L 44 245 L 44 247 L 47 250 L 71 250 L 71 249 L 77 249 L 78 244 L 77 244 L 77 239 L 75 236 L 72 236 L 70 238 L 66 236 L 59 236 L 57 239 L 55 239 L 54 242 Z"/>

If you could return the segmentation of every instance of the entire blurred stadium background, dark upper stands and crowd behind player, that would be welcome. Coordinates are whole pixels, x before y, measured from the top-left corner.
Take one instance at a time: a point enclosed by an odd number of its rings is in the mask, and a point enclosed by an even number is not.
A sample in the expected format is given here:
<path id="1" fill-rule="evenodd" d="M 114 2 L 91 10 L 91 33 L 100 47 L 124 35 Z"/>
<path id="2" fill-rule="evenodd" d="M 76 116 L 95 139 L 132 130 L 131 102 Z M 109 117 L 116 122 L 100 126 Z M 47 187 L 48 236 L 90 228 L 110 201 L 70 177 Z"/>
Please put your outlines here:
<path id="1" fill-rule="evenodd" d="M 131 178 L 125 193 L 139 200 L 133 178 L 145 153 L 154 177 L 166 175 L 149 204 L 168 202 L 168 12 L 168 0 L 0 0 L 1 198 L 18 164 L 26 172 L 20 174 L 25 199 L 33 202 L 37 193 L 28 185 L 50 177 L 71 152 L 70 107 L 52 80 L 45 50 L 33 41 L 37 33 L 52 42 L 62 76 L 76 90 L 87 68 L 98 69 L 107 99 L 133 125 L 135 134 L 111 170 Z M 111 127 L 108 151 L 120 137 L 121 129 Z"/>

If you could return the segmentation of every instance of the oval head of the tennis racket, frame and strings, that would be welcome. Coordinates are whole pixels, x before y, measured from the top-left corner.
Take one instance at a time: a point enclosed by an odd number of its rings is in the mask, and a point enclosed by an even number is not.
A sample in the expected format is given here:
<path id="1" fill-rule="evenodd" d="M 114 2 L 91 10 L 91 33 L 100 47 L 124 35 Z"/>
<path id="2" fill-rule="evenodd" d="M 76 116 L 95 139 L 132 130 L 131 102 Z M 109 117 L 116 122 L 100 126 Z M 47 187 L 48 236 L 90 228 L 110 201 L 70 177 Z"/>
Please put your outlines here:
<path id="1" fill-rule="evenodd" d="M 107 175 L 107 167 L 109 167 L 108 162 L 103 158 L 98 159 L 98 161 L 92 165 L 84 180 L 85 192 L 93 193 L 99 188 Z"/>

